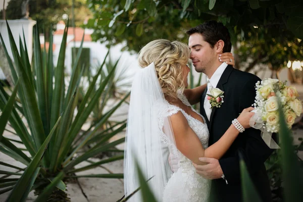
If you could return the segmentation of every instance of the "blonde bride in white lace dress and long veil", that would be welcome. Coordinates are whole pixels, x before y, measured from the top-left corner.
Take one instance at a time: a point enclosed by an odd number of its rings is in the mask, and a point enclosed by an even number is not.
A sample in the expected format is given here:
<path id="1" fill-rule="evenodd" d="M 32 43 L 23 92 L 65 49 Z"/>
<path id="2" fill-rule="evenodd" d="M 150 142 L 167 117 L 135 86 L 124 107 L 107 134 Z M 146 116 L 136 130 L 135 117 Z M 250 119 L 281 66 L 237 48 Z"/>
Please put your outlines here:
<path id="1" fill-rule="evenodd" d="M 206 85 L 185 89 L 189 54 L 187 44 L 165 39 L 149 42 L 139 53 L 142 69 L 132 84 L 126 130 L 126 197 L 140 186 L 138 165 L 145 180 L 151 178 L 148 185 L 157 201 L 207 201 L 210 181 L 198 175 L 192 163 L 201 165 L 200 157 L 220 159 L 239 135 L 231 123 L 221 139 L 208 147 L 206 120 L 191 107 Z M 252 109 L 244 109 L 237 118 L 244 128 L 250 127 Z M 178 163 L 170 165 L 170 156 Z M 129 200 L 143 201 L 141 192 Z"/>

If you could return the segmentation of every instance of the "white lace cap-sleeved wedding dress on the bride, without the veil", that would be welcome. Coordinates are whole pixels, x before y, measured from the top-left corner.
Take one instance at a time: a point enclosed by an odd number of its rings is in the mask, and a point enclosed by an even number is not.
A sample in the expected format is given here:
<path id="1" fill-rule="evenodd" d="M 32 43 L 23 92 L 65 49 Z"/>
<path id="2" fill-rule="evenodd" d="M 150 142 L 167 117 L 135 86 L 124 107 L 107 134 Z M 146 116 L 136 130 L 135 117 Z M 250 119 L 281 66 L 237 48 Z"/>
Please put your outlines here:
<path id="1" fill-rule="evenodd" d="M 178 97 L 185 105 L 191 107 L 183 93 L 178 93 Z M 195 112 L 192 107 L 191 109 Z M 209 130 L 206 124 L 206 120 L 203 116 L 197 113 L 203 118 L 204 123 L 188 115 L 181 108 L 171 105 L 168 102 L 160 104 L 159 110 L 161 112 L 159 117 L 160 128 L 163 127 L 164 117 L 170 117 L 178 112 L 181 112 L 187 119 L 190 128 L 199 137 L 201 143 L 203 144 L 203 147 L 208 147 Z M 195 172 L 195 168 L 193 167 L 192 162 L 176 148 L 175 144 L 171 142 L 164 133 L 162 134 L 161 139 L 165 145 L 169 147 L 175 147 L 174 155 L 178 156 L 180 165 L 177 172 L 172 174 L 167 185 L 165 186 L 163 193 L 163 202 L 208 201 L 211 181 L 201 177 Z"/>

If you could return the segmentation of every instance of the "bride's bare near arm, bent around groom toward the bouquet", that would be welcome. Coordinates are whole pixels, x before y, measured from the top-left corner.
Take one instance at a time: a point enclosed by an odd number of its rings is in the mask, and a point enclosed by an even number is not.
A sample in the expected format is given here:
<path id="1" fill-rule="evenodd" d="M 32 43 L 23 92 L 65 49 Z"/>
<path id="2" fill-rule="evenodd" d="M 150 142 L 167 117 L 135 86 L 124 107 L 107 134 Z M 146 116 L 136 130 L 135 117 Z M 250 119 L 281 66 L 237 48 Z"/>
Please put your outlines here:
<path id="1" fill-rule="evenodd" d="M 249 120 L 254 115 L 250 111 L 254 108 L 244 109 L 237 120 L 244 128 L 249 128 Z M 177 148 L 181 153 L 195 164 L 202 165 L 200 157 L 220 159 L 229 149 L 239 131 L 233 124 L 224 135 L 207 149 L 203 148 L 198 136 L 189 127 L 188 122 L 181 112 L 170 117 Z"/>

